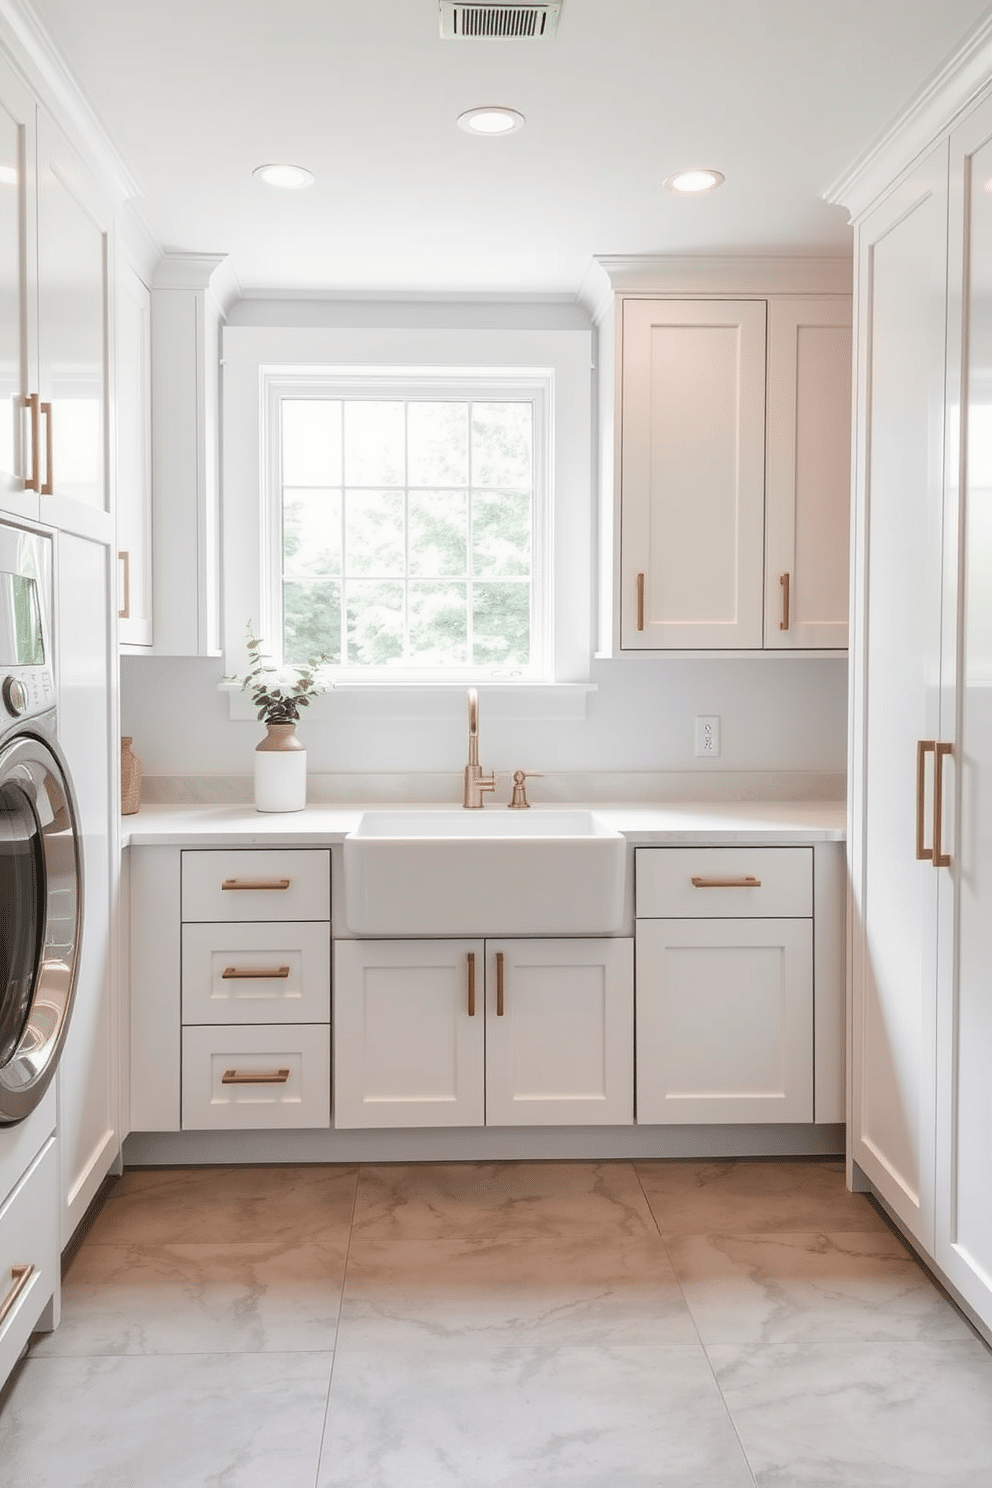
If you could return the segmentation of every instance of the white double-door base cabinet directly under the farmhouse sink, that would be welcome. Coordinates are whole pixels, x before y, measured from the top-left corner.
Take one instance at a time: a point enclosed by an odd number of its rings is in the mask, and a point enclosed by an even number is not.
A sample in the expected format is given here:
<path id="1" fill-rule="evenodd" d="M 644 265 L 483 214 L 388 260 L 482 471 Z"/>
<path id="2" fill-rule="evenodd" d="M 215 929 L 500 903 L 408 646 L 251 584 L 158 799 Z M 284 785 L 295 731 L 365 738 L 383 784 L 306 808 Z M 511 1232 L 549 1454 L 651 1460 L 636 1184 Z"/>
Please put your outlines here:
<path id="1" fill-rule="evenodd" d="M 335 1126 L 634 1120 L 625 939 L 338 940 Z"/>

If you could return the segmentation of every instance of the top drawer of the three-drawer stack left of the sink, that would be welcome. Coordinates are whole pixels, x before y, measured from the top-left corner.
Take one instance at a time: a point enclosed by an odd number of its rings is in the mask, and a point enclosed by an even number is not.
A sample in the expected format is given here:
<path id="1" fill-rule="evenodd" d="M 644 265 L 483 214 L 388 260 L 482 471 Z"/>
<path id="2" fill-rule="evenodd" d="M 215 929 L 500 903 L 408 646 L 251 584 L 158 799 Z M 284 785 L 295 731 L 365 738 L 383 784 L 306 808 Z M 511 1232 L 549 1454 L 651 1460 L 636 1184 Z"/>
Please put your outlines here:
<path id="1" fill-rule="evenodd" d="M 183 853 L 183 920 L 330 920 L 326 848 Z"/>

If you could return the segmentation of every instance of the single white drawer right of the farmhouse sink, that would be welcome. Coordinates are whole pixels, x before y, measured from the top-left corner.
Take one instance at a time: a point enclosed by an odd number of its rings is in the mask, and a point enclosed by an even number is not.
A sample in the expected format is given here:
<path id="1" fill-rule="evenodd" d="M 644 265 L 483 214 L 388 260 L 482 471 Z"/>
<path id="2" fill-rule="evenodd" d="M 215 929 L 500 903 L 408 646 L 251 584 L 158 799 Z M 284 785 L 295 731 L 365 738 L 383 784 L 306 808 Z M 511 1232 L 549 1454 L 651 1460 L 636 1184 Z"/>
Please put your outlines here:
<path id="1" fill-rule="evenodd" d="M 638 918 L 791 920 L 814 912 L 809 847 L 642 847 L 635 869 Z"/>

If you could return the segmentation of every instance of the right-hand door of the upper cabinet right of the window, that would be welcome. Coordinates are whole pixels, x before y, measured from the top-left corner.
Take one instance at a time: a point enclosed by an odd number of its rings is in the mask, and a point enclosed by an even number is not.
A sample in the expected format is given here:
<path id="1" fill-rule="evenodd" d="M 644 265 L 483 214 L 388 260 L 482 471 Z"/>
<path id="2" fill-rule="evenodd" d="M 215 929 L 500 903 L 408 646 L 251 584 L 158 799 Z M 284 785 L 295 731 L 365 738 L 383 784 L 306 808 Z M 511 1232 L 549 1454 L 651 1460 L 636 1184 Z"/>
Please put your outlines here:
<path id="1" fill-rule="evenodd" d="M 764 644 L 846 647 L 851 301 L 769 304 Z"/>

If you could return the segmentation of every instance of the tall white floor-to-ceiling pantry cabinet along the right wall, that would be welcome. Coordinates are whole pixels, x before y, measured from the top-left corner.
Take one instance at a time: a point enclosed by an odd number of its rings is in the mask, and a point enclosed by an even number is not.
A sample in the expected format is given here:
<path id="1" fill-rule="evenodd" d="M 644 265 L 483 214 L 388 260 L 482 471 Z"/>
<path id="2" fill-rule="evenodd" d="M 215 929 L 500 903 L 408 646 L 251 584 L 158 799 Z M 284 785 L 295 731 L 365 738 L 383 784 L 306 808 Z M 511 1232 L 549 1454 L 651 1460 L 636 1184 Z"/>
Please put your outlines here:
<path id="1" fill-rule="evenodd" d="M 992 42 L 992 28 L 989 30 Z M 852 1177 L 992 1330 L 992 45 L 857 220 Z M 962 82 L 974 76 L 962 67 Z M 913 147 L 910 147 L 910 143 Z M 875 165 L 877 173 L 877 162 Z M 879 189 L 880 187 L 880 189 Z"/>

